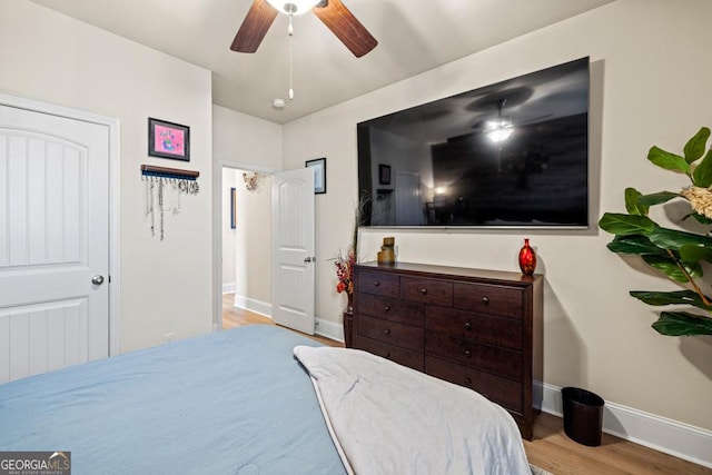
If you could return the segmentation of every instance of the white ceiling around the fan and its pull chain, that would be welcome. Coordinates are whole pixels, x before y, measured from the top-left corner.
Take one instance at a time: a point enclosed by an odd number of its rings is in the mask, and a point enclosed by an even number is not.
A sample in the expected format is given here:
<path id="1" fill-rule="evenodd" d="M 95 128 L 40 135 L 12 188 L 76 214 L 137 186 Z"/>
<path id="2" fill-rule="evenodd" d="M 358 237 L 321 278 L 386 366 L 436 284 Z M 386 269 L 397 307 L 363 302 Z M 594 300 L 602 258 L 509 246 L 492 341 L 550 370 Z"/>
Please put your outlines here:
<path id="1" fill-rule="evenodd" d="M 378 46 L 357 59 L 316 16 L 295 17 L 291 101 L 286 16 L 256 53 L 229 49 L 253 0 L 31 1 L 209 69 L 212 102 L 285 123 L 614 0 L 344 0 Z"/>

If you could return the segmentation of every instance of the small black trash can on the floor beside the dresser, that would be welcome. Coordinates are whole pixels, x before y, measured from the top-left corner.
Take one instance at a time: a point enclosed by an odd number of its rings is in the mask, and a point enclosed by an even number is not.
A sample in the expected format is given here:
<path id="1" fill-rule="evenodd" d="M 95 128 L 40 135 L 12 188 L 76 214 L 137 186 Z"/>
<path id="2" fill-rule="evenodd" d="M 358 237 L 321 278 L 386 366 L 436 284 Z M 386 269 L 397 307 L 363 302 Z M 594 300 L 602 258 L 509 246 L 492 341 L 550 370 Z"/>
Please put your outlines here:
<path id="1" fill-rule="evenodd" d="M 603 405 L 601 396 L 577 387 L 561 390 L 564 406 L 564 432 L 578 444 L 601 445 Z"/>

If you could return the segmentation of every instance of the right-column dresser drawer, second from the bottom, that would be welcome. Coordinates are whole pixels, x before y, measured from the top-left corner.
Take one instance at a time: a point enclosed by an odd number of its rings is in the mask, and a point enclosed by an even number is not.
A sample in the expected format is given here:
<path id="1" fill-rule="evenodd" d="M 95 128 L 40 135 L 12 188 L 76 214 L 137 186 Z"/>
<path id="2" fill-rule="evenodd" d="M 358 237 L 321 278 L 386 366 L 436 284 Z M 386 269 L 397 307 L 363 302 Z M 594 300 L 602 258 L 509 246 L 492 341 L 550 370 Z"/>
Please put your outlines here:
<path id="1" fill-rule="evenodd" d="M 522 378 L 522 352 L 425 331 L 425 354 L 511 378 Z"/>

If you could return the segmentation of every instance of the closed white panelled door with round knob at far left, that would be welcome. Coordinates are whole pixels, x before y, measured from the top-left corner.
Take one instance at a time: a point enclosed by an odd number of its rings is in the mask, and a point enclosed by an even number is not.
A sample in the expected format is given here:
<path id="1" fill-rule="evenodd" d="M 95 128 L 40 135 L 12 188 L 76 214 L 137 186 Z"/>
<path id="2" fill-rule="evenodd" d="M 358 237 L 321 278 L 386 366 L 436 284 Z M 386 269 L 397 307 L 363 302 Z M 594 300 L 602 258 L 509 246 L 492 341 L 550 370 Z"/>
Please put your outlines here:
<path id="1" fill-rule="evenodd" d="M 0 105 L 0 383 L 109 352 L 109 128 Z"/>

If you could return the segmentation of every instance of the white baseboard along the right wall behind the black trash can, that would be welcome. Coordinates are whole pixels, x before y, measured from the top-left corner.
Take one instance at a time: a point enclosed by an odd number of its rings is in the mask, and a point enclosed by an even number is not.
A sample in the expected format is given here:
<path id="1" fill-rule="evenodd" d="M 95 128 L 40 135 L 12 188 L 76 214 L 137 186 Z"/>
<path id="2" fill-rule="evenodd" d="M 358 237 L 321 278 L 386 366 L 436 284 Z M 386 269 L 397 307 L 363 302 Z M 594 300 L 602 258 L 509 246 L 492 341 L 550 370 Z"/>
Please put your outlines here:
<path id="1" fill-rule="evenodd" d="M 563 417 L 561 387 L 542 386 L 542 410 Z M 711 431 L 606 400 L 603 432 L 712 468 Z"/>

